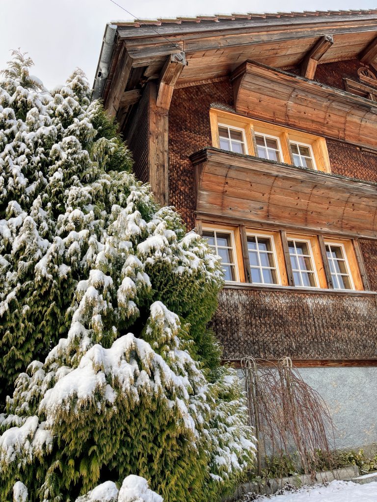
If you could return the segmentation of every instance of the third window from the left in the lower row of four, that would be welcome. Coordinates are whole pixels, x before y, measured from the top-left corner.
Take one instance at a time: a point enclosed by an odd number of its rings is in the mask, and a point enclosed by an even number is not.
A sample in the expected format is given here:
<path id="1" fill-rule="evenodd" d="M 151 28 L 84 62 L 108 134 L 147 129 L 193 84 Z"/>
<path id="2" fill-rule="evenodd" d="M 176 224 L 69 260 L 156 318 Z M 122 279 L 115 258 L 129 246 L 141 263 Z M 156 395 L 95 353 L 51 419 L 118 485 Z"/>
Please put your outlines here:
<path id="1" fill-rule="evenodd" d="M 318 285 L 309 240 L 288 240 L 295 286 L 316 288 Z"/>

